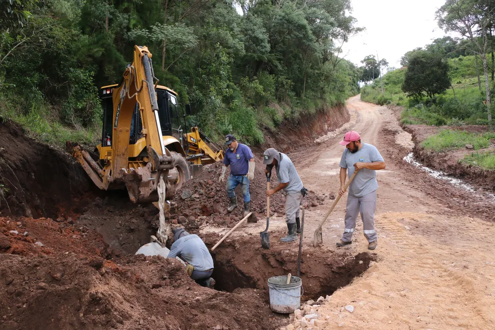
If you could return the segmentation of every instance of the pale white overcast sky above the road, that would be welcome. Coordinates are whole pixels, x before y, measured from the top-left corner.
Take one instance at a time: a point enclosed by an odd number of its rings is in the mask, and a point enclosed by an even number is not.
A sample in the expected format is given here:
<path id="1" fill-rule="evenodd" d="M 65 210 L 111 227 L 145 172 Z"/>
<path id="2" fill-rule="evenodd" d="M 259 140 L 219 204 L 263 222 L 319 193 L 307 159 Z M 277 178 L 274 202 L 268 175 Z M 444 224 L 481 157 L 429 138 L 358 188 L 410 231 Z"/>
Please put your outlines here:
<path id="1" fill-rule="evenodd" d="M 370 54 L 385 58 L 390 66 L 400 67 L 400 57 L 408 50 L 424 47 L 446 34 L 438 27 L 435 12 L 445 0 L 351 0 L 351 15 L 365 27 L 344 44 L 347 60 L 361 66 Z M 454 35 L 451 35 L 454 37 Z"/>

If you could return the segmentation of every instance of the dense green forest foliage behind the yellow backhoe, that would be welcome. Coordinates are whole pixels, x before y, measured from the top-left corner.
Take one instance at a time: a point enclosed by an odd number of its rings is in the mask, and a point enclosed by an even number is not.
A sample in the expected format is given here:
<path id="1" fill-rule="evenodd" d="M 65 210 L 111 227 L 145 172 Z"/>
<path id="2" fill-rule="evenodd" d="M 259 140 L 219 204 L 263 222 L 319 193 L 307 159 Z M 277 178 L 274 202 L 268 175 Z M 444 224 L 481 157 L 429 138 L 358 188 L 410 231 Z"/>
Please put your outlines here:
<path id="1" fill-rule="evenodd" d="M 338 56 L 362 30 L 349 0 L 246 1 L 243 15 L 232 0 L 21 2 L 0 25 L 0 115 L 44 141 L 98 137 L 98 89 L 121 82 L 134 45 L 213 139 L 258 143 L 358 92 L 358 69 Z"/>

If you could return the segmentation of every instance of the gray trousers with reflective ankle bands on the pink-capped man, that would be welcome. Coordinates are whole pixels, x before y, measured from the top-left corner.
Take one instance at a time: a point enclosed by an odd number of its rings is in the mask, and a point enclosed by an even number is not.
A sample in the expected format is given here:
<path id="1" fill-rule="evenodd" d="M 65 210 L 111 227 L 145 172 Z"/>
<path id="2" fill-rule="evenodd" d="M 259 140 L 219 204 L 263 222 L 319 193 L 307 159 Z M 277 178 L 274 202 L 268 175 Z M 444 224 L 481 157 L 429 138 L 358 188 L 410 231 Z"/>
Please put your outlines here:
<path id="1" fill-rule="evenodd" d="M 364 236 L 368 242 L 377 240 L 375 231 L 376 190 L 361 197 L 347 196 L 347 212 L 344 220 L 345 229 L 342 240 L 350 242 L 356 228 L 357 215 L 363 219 Z"/>

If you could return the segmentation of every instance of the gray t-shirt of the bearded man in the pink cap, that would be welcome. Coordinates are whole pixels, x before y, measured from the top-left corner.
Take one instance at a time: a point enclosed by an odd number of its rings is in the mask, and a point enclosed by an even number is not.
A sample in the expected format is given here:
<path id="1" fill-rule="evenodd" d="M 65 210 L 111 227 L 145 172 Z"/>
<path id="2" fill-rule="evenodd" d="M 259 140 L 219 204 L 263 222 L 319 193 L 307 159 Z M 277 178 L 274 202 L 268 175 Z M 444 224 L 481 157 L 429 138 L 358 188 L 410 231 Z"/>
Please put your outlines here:
<path id="1" fill-rule="evenodd" d="M 354 174 L 354 164 L 357 162 L 373 163 L 383 162 L 383 157 L 378 149 L 371 144 L 363 143 L 358 151 L 352 153 L 346 148 L 342 154 L 339 166 L 347 168 L 347 176 L 350 178 Z M 362 168 L 357 172 L 354 180 L 349 185 L 349 194 L 354 197 L 361 197 L 378 189 L 376 181 L 376 171 Z"/>

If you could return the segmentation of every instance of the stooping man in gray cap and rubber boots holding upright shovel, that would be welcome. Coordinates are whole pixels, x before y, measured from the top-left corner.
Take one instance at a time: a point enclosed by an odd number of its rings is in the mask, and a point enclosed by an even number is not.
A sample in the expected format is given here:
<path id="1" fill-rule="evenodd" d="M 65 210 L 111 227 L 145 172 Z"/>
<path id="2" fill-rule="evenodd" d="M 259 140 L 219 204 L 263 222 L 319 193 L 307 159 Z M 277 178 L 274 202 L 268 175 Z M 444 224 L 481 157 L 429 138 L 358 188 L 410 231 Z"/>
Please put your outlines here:
<path id="1" fill-rule="evenodd" d="M 306 189 L 302 186 L 302 181 L 297 174 L 296 166 L 285 153 L 278 152 L 274 148 L 266 149 L 263 154 L 263 164 L 266 165 L 265 172 L 270 173 L 273 166 L 277 170 L 279 185 L 274 189 L 266 190 L 266 195 L 271 196 L 275 192 L 284 189 L 285 196 L 285 221 L 289 234 L 280 238 L 283 242 L 290 242 L 297 239 L 297 234 L 301 233 L 301 223 L 299 221 L 299 205 L 302 197 L 306 194 Z M 296 234 L 297 233 L 297 234 Z"/>

